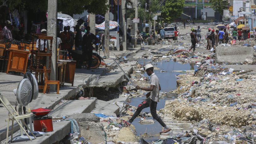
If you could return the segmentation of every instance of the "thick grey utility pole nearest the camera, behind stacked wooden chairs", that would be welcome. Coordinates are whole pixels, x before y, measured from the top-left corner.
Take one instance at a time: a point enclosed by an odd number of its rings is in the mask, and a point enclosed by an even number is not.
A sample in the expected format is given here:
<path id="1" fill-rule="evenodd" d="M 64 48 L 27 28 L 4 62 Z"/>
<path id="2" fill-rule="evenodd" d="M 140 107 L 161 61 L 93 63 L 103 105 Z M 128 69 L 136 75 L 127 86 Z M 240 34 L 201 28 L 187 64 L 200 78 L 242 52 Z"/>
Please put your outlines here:
<path id="1" fill-rule="evenodd" d="M 57 78 L 57 0 L 48 0 L 47 36 L 53 36 L 51 77 L 50 80 Z M 55 91 L 55 85 L 50 87 Z"/>

